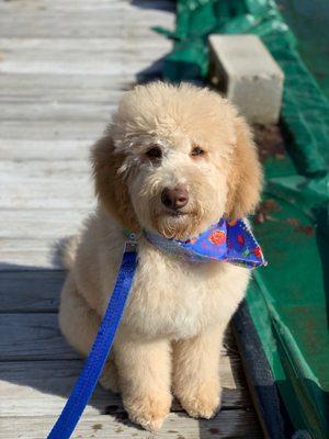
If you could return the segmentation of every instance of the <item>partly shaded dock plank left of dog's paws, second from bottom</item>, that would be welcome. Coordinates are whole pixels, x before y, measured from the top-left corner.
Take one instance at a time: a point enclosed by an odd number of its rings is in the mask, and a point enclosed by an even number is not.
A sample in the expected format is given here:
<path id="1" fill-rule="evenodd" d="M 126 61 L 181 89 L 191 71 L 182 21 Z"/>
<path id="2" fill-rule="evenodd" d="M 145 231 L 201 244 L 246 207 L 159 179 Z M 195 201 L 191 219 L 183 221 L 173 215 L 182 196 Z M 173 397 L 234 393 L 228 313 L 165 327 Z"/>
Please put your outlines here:
<path id="1" fill-rule="evenodd" d="M 55 356 L 54 356 L 55 357 Z M 1 417 L 54 416 L 79 376 L 82 361 L 20 361 L 0 363 Z M 120 396 L 97 387 L 86 415 L 105 413 L 106 406 L 122 407 Z"/>

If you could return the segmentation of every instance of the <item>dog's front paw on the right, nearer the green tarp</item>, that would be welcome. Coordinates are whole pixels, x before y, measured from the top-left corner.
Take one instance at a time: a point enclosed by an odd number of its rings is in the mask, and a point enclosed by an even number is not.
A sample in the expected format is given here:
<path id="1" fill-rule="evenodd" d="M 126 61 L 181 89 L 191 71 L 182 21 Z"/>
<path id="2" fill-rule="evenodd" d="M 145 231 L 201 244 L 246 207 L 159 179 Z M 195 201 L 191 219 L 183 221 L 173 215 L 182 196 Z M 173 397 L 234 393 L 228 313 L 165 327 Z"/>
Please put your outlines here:
<path id="1" fill-rule="evenodd" d="M 190 389 L 178 396 L 181 406 L 193 418 L 209 419 L 216 415 L 220 404 L 220 390 L 217 385 L 203 384 Z"/>

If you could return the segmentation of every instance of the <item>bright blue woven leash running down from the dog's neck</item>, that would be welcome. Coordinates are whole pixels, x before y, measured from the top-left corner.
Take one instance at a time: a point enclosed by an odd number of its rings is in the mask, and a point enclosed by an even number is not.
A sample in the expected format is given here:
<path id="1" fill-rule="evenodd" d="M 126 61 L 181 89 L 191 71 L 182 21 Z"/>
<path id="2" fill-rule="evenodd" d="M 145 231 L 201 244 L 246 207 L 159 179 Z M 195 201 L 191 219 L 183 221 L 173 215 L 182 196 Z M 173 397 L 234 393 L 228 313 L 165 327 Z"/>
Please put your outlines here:
<path id="1" fill-rule="evenodd" d="M 84 362 L 82 372 L 47 439 L 68 439 L 76 428 L 112 348 L 115 333 L 129 295 L 136 267 L 136 245 L 127 243 L 116 283 L 97 338 Z"/>

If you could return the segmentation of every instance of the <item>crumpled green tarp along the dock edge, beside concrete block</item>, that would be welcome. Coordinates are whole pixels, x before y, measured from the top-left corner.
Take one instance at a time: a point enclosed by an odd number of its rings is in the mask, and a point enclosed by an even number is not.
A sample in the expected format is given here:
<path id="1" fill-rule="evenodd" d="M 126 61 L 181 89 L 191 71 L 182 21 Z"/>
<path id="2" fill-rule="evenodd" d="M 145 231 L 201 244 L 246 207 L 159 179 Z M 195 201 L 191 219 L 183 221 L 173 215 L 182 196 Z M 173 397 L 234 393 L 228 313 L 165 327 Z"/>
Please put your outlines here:
<path id="1" fill-rule="evenodd" d="M 254 224 L 269 267 L 247 303 L 296 429 L 329 437 L 329 103 L 271 0 L 179 0 L 167 80 L 206 79 L 209 33 L 256 33 L 285 74 L 287 151 L 264 161 L 264 221 Z M 329 29 L 329 22 L 328 22 Z"/>

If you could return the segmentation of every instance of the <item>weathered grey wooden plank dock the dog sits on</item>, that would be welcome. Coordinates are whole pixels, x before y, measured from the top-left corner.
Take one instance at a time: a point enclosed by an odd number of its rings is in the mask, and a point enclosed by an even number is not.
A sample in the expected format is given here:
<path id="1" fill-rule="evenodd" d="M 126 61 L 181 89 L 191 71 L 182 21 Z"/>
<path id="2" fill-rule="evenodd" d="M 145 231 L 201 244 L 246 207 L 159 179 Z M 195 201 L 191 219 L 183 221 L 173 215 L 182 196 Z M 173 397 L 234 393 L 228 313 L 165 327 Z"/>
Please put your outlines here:
<path id="1" fill-rule="evenodd" d="M 157 75 L 173 26 L 169 0 L 0 0 L 0 439 L 44 439 L 81 368 L 61 337 L 64 272 L 54 248 L 94 207 L 88 155 L 120 95 Z M 262 437 L 230 335 L 223 409 L 162 430 L 132 425 L 98 389 L 73 438 Z"/>

